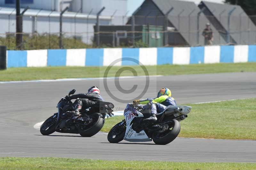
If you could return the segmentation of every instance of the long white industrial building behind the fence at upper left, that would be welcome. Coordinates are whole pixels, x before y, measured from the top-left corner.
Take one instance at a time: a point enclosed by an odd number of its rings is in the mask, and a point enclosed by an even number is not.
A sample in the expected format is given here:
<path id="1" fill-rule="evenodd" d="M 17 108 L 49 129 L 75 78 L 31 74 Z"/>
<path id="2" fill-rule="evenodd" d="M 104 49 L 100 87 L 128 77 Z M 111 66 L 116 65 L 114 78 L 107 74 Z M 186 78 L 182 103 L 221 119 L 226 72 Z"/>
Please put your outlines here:
<path id="1" fill-rule="evenodd" d="M 96 24 L 96 14 L 100 14 L 100 25 L 122 25 L 125 18 L 112 16 L 124 15 L 127 11 L 127 0 L 20 0 L 21 11 L 27 6 L 23 16 L 23 32 L 51 33 L 60 32 L 60 11 L 69 7 L 63 14 L 63 33 L 66 37 L 76 37 L 87 44 L 92 44 Z M 114 5 L 116 4 L 116 5 Z M 116 8 L 118 7 L 118 10 Z M 15 0 L 0 0 L 0 36 L 16 31 Z M 111 17 L 112 16 L 112 17 Z"/>

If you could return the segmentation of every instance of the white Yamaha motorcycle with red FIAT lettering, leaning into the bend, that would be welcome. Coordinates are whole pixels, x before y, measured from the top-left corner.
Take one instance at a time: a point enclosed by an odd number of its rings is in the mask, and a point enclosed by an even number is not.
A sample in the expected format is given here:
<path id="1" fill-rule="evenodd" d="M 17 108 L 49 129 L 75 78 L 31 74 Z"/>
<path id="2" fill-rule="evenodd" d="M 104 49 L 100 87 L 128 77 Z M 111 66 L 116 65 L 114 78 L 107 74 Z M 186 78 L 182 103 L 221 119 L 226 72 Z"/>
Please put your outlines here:
<path id="1" fill-rule="evenodd" d="M 192 107 L 168 106 L 158 113 L 157 121 L 143 121 L 149 117 L 147 109 L 142 105 L 127 104 L 124 110 L 124 120 L 117 123 L 108 133 L 110 143 L 118 143 L 123 139 L 129 142 L 148 142 L 169 144 L 180 133 L 180 121 L 188 117 Z"/>

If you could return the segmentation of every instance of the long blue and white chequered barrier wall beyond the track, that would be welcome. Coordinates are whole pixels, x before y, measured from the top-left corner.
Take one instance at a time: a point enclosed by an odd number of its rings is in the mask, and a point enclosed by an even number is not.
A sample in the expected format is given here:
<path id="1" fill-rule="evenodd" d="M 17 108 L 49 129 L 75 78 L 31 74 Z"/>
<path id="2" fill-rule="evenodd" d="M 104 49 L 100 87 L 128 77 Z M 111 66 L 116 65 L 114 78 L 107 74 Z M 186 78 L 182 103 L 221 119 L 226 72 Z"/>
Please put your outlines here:
<path id="1" fill-rule="evenodd" d="M 108 66 L 124 57 L 143 65 L 256 62 L 256 45 L 7 51 L 7 67 Z"/>

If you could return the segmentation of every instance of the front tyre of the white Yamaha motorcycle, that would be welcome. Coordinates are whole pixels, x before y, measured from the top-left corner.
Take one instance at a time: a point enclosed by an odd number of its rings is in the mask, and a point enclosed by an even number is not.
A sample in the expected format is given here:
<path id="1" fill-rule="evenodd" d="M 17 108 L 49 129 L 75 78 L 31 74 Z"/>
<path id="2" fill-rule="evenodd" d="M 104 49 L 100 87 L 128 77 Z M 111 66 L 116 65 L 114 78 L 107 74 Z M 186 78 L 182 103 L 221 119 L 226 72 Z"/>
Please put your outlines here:
<path id="1" fill-rule="evenodd" d="M 108 142 L 110 143 L 118 143 L 124 139 L 126 124 L 125 122 L 117 123 L 109 132 L 108 132 Z"/>

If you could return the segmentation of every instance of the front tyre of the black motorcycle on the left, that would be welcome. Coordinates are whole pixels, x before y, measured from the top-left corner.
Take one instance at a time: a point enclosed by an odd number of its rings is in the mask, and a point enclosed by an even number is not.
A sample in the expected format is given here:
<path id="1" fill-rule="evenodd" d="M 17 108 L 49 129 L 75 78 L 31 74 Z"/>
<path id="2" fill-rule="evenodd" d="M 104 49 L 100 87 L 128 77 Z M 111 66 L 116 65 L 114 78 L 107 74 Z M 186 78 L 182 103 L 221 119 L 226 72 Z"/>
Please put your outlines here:
<path id="1" fill-rule="evenodd" d="M 55 132 L 55 126 L 57 122 L 57 116 L 53 115 L 46 119 L 44 123 L 41 125 L 40 132 L 42 135 L 50 135 Z"/>

